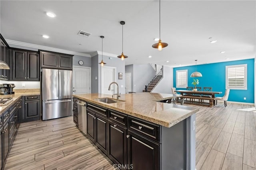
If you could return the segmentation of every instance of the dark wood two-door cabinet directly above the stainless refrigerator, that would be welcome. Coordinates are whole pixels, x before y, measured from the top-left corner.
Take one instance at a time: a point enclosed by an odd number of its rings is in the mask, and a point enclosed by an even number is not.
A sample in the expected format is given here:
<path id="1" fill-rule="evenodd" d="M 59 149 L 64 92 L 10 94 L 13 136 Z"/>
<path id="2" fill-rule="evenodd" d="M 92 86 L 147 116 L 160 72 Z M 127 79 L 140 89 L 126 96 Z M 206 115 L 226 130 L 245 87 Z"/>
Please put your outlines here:
<path id="1" fill-rule="evenodd" d="M 73 55 L 40 51 L 41 67 L 51 69 L 73 69 Z"/>

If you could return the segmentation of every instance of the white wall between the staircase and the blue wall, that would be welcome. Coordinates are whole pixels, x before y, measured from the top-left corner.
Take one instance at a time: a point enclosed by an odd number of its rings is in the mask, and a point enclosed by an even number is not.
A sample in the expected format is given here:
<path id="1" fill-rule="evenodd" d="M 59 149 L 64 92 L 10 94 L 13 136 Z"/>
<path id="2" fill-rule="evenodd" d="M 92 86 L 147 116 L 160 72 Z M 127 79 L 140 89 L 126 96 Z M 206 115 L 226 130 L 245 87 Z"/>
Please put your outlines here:
<path id="1" fill-rule="evenodd" d="M 152 91 L 152 93 L 172 93 L 173 68 L 164 66 L 164 77 Z"/>

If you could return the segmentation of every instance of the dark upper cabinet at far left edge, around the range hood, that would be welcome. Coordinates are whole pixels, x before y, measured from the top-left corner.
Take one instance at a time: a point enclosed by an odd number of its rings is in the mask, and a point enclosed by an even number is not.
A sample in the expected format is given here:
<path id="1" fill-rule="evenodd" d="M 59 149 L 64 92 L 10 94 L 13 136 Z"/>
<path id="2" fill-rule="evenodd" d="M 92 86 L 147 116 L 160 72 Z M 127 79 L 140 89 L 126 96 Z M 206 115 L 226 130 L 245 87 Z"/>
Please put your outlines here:
<path id="1" fill-rule="evenodd" d="M 6 62 L 9 65 L 9 48 L 8 44 L 4 40 L 1 35 L 0 38 L 0 60 Z M 8 80 L 9 78 L 9 70 L 8 69 L 0 69 L 0 79 Z"/>

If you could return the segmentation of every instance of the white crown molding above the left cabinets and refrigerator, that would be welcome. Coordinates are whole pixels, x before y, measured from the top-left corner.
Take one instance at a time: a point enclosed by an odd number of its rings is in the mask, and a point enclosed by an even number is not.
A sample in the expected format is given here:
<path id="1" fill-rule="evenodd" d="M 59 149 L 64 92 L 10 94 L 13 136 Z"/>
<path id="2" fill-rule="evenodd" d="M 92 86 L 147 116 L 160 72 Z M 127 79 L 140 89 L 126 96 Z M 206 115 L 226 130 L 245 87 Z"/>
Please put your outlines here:
<path id="1" fill-rule="evenodd" d="M 8 40 L 8 39 L 6 39 L 6 42 L 8 44 L 20 45 L 20 46 L 31 47 L 31 48 L 36 48 L 36 49 L 42 49 L 42 50 L 52 51 L 52 52 L 57 52 L 57 53 L 65 53 L 65 54 L 71 54 L 71 55 L 80 55 L 80 56 L 85 56 L 85 57 L 91 57 L 90 54 L 86 54 L 86 53 L 79 53 L 79 52 L 75 52 L 75 51 L 68 51 L 68 50 L 65 50 L 65 49 L 47 47 L 47 46 L 36 45 L 36 44 L 32 44 L 32 43 L 18 42 L 18 41 Z"/>

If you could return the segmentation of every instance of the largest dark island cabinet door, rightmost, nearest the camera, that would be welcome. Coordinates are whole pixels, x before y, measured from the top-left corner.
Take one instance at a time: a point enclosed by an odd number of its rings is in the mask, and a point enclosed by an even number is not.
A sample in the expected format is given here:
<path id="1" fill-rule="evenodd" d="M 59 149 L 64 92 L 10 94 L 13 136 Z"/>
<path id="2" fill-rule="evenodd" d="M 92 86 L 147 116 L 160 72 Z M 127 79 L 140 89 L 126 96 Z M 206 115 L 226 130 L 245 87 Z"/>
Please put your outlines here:
<path id="1" fill-rule="evenodd" d="M 134 170 L 159 170 L 160 144 L 128 130 L 128 165 Z"/>

